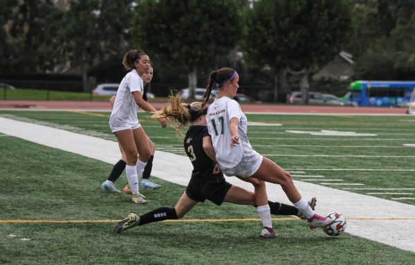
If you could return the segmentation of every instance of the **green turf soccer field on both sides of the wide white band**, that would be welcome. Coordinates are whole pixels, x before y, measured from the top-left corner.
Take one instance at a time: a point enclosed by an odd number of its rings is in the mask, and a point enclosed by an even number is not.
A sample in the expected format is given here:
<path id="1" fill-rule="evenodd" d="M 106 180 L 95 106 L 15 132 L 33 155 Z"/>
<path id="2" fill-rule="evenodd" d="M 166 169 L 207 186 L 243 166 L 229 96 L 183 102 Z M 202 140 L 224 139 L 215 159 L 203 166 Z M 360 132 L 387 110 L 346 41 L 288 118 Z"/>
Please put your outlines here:
<path id="1" fill-rule="evenodd" d="M 4 110 L 0 116 L 115 140 L 106 112 Z M 160 129 L 148 115 L 139 117 L 157 150 L 184 154 L 172 129 Z M 415 205 L 415 117 L 248 115 L 248 120 L 252 146 L 293 179 Z M 6 264 L 411 264 L 415 258 L 414 252 L 347 233 L 331 238 L 294 218 L 277 217 L 279 237 L 259 240 L 259 221 L 248 220 L 257 218 L 255 208 L 209 202 L 181 222 L 114 235 L 116 220 L 174 206 L 184 187 L 156 179 L 163 189 L 144 190 L 150 202 L 137 206 L 124 195 L 100 190 L 111 164 L 8 135 L 0 136 L 0 152 L 0 251 L 5 253 L 0 261 Z M 190 222 L 194 219 L 202 220 Z M 413 226 L 415 219 L 408 222 Z"/>

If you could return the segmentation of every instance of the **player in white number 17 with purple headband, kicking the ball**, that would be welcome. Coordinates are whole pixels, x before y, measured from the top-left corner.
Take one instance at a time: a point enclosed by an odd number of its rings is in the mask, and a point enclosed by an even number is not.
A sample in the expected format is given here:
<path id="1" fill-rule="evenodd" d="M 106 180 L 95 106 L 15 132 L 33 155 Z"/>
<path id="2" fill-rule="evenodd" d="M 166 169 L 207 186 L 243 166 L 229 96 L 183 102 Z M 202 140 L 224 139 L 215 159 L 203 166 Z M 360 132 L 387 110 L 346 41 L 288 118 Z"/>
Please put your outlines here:
<path id="1" fill-rule="evenodd" d="M 219 88 L 219 95 L 208 108 L 209 134 L 216 152 L 216 161 L 226 175 L 238 177 L 256 177 L 264 181 L 279 184 L 288 199 L 307 217 L 310 228 L 328 226 L 331 219 L 314 213 L 298 192 L 291 175 L 275 162 L 259 155 L 249 143 L 246 116 L 237 101 L 239 75 L 232 68 L 221 68 L 210 73 L 205 103 L 210 97 L 212 87 Z M 267 204 L 262 204 L 264 209 Z M 269 207 L 268 209 L 269 212 Z"/>

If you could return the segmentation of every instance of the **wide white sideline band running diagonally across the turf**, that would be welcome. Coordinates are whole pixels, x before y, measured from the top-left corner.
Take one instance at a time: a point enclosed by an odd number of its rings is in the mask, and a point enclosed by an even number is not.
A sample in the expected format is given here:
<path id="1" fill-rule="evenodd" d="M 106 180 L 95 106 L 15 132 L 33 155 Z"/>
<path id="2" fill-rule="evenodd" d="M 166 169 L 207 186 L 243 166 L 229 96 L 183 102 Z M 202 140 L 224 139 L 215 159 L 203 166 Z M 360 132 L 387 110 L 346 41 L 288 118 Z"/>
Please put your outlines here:
<path id="1" fill-rule="evenodd" d="M 0 117 L 0 133 L 111 164 L 120 158 L 116 141 L 66 130 Z M 192 165 L 187 157 L 156 151 L 152 173 L 155 177 L 185 186 L 191 171 Z M 227 180 L 253 190 L 250 184 L 234 177 Z M 335 210 L 349 217 L 347 232 L 351 235 L 415 252 L 412 241 L 415 237 L 415 206 L 302 181 L 295 181 L 295 184 L 304 197 L 317 197 L 318 213 L 326 214 Z M 270 200 L 290 203 L 279 185 L 267 184 L 267 192 Z"/>

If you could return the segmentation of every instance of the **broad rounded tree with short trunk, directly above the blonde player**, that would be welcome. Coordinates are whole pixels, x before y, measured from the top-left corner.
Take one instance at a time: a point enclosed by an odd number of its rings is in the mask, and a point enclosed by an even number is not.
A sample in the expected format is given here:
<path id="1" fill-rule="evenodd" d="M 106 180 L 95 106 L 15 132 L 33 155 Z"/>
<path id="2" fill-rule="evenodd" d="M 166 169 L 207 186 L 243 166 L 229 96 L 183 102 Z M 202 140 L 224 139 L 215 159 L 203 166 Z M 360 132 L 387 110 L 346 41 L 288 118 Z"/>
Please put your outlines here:
<path id="1" fill-rule="evenodd" d="M 198 68 L 226 55 L 236 46 L 241 32 L 235 0 L 143 0 L 133 23 L 136 46 L 150 57 L 187 67 L 192 98 Z"/>

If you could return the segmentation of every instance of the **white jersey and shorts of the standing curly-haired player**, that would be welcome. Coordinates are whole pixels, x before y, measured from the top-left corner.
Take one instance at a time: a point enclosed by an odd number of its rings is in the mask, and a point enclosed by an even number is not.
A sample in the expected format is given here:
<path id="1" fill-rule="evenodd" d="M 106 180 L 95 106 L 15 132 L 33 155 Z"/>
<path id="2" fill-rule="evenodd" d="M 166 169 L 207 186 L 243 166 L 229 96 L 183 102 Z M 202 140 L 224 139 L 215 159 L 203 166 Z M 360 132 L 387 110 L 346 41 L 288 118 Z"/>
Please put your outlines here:
<path id="1" fill-rule="evenodd" d="M 143 92 L 144 84 L 138 72 L 133 69 L 122 79 L 117 90 L 116 101 L 114 102 L 109 125 L 114 128 L 128 128 L 138 124 L 138 105 L 134 101 L 134 91 Z"/>

